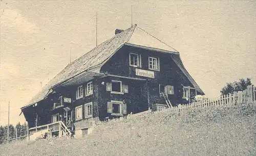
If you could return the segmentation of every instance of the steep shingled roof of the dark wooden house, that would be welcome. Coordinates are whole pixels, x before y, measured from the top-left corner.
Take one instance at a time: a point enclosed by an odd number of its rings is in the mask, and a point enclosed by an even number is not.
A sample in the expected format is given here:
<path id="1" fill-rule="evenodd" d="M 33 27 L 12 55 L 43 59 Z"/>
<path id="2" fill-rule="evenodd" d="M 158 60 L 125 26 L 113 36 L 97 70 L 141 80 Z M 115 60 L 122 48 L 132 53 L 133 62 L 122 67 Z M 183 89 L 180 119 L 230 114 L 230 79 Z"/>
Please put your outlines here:
<path id="1" fill-rule="evenodd" d="M 138 46 L 151 47 L 156 49 L 162 49 L 170 52 L 177 52 L 172 47 L 163 43 L 154 36 L 148 34 L 143 29 L 139 28 L 137 25 L 130 27 L 129 29 L 124 30 L 123 32 L 116 34 L 109 40 L 106 40 L 99 44 L 88 53 L 74 60 L 66 66 L 60 73 L 58 73 L 52 80 L 50 80 L 47 85 L 42 87 L 41 91 L 37 93 L 29 104 L 36 103 L 44 99 L 52 86 L 61 83 L 67 79 L 70 79 L 84 71 L 90 70 L 97 65 L 102 65 L 102 63 L 110 58 L 119 48 L 121 48 L 125 43 L 136 44 Z M 178 54 L 178 52 L 177 52 Z M 183 65 L 179 66 L 180 68 L 184 67 Z M 191 80 L 191 82 L 201 91 L 200 87 L 196 82 L 191 78 L 191 76 L 183 70 L 184 74 Z M 203 92 L 202 92 L 203 93 Z"/>

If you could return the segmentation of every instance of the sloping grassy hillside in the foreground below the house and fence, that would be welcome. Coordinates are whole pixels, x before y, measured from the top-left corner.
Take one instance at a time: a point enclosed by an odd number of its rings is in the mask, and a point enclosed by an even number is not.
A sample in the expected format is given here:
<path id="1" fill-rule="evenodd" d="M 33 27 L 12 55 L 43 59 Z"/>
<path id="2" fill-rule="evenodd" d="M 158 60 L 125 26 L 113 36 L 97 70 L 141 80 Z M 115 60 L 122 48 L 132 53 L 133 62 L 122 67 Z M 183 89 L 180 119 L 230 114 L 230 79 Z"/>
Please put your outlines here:
<path id="1" fill-rule="evenodd" d="M 0 146 L 0 155 L 256 155 L 255 104 L 162 113 L 81 139 Z"/>

